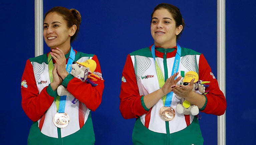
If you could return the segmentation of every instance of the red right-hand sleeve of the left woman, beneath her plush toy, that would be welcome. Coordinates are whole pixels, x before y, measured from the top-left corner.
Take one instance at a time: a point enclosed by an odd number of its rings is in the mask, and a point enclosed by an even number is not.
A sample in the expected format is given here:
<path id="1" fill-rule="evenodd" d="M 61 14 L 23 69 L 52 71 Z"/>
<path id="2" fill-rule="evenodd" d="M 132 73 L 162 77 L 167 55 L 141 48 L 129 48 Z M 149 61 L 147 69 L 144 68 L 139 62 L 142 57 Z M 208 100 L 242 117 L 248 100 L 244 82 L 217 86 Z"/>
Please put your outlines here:
<path id="1" fill-rule="evenodd" d="M 92 59 L 96 62 L 96 69 L 93 73 L 101 78 L 95 81 L 95 83 L 98 85 L 93 87 L 91 84 L 82 82 L 78 78 L 73 78 L 69 81 L 67 85 L 67 90 L 76 99 L 84 103 L 87 108 L 95 111 L 101 103 L 102 93 L 104 89 L 104 80 L 101 75 L 100 63 L 97 56 L 94 55 Z"/>

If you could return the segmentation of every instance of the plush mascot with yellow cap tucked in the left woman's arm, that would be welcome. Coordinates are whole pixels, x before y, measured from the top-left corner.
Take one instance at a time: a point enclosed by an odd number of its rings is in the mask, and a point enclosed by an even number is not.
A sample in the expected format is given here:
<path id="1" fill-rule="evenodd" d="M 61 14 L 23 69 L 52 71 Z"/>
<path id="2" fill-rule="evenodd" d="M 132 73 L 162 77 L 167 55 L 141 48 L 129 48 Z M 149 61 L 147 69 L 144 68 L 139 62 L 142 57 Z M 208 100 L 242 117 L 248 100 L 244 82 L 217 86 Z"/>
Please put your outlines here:
<path id="1" fill-rule="evenodd" d="M 96 78 L 99 78 L 99 76 L 93 74 L 93 72 L 96 69 L 96 62 L 92 59 L 87 59 L 84 62 L 73 62 L 73 64 L 71 65 L 71 72 L 70 74 L 78 79 L 80 79 L 82 82 L 86 82 L 88 84 L 91 84 L 93 87 L 97 86 L 98 84 L 96 84 L 94 81 L 97 81 Z M 72 96 L 67 89 L 60 85 L 57 88 L 57 94 L 59 96 Z"/>

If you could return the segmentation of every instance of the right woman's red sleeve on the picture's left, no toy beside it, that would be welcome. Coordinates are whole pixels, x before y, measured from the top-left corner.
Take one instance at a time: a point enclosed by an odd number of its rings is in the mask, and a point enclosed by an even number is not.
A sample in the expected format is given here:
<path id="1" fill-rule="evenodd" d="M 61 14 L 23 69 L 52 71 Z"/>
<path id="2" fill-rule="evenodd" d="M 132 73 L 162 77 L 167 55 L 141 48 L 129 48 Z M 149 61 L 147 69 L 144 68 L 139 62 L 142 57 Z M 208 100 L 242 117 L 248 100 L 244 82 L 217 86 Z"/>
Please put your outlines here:
<path id="1" fill-rule="evenodd" d="M 141 97 L 137 86 L 133 63 L 130 55 L 128 55 L 122 73 L 119 107 L 121 114 L 125 119 L 137 118 L 147 112 L 141 104 Z"/>

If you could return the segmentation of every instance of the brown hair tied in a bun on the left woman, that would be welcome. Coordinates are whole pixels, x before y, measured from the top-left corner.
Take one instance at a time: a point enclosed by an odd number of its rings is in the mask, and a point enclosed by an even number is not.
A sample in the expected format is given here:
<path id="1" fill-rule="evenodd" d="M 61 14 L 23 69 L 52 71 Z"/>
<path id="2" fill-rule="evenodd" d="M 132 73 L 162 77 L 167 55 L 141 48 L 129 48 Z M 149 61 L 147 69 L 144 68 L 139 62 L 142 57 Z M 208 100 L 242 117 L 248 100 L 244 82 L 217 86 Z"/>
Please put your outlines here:
<path id="1" fill-rule="evenodd" d="M 67 22 L 67 26 L 68 28 L 71 28 L 73 25 L 76 25 L 77 29 L 76 32 L 73 36 L 71 36 L 70 38 L 70 42 L 72 42 L 75 38 L 76 35 L 79 31 L 79 26 L 81 24 L 81 15 L 79 13 L 79 11 L 77 11 L 76 9 L 67 9 L 65 7 L 53 7 L 52 9 L 50 9 L 48 12 L 46 12 L 44 14 L 44 18 L 49 14 L 49 13 L 53 13 L 56 12 L 58 14 L 60 14 L 63 19 Z"/>

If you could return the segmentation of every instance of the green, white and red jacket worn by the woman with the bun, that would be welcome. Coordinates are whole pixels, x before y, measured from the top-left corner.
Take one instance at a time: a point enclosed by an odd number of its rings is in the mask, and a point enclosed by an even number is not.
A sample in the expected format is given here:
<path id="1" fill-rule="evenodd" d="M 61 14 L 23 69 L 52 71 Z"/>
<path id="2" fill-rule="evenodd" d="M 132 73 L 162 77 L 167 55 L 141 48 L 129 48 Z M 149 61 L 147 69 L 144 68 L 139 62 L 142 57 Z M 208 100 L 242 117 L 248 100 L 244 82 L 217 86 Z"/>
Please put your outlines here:
<path id="1" fill-rule="evenodd" d="M 70 53 L 70 52 L 69 52 Z M 66 60 L 68 60 L 69 53 L 66 54 Z M 82 82 L 78 78 L 69 74 L 62 82 L 62 85 L 72 94 L 67 96 L 65 112 L 70 117 L 69 125 L 65 128 L 61 128 L 61 136 L 59 138 L 67 137 L 71 134 L 79 136 L 78 132 L 86 122 L 91 122 L 90 111 L 95 111 L 101 103 L 101 97 L 104 89 L 104 80 L 101 75 L 100 64 L 97 56 L 94 54 L 85 54 L 75 50 L 75 60 L 78 62 L 84 62 L 87 59 L 93 59 L 97 66 L 94 74 L 98 75 L 101 79 L 98 79 L 95 83 L 98 85 L 92 87 L 91 84 Z M 43 54 L 38 57 L 30 58 L 26 62 L 24 73 L 22 75 L 22 82 L 26 83 L 25 87 L 21 86 L 22 95 L 22 108 L 27 116 L 34 121 L 29 139 L 40 138 L 40 135 L 46 135 L 52 138 L 58 138 L 57 127 L 53 124 L 53 116 L 57 112 L 55 105 L 55 98 L 57 91 L 53 91 L 50 87 L 50 78 L 48 72 L 48 54 Z M 53 62 L 54 63 L 54 62 Z M 66 61 L 67 63 L 67 61 Z M 73 104 L 71 101 L 74 99 L 79 101 Z M 94 131 L 92 124 L 87 124 L 87 135 L 90 136 L 91 142 L 94 143 Z M 37 126 L 38 131 L 35 129 Z M 31 133 L 34 127 L 35 132 Z M 77 133 L 76 133 L 77 132 Z M 78 134 L 79 133 L 79 134 Z M 41 142 L 42 143 L 42 142 Z"/>

